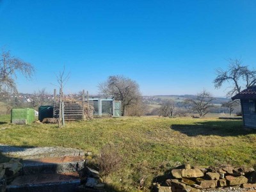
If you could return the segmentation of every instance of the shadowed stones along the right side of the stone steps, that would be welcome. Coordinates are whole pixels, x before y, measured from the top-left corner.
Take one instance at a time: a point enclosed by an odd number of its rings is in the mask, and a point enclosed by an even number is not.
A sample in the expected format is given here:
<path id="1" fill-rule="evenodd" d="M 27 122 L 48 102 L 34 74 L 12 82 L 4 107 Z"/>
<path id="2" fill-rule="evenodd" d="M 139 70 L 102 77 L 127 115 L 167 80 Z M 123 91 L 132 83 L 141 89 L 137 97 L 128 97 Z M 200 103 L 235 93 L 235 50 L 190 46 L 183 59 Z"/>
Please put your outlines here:
<path id="1" fill-rule="evenodd" d="M 81 179 L 81 185 L 77 187 L 79 192 L 104 192 L 104 183 L 99 176 L 99 172 L 89 168 L 84 167 L 79 171 L 79 177 Z"/>

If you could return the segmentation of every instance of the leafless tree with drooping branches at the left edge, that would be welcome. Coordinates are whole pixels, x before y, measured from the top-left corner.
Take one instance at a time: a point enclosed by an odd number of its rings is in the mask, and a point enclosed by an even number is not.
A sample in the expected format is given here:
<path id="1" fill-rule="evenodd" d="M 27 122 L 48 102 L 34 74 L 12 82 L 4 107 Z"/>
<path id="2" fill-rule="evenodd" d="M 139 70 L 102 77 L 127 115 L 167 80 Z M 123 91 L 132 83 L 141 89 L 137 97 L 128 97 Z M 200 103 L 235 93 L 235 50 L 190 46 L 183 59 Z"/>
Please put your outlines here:
<path id="1" fill-rule="evenodd" d="M 12 56 L 10 51 L 1 52 L 0 58 L 0 93 L 15 93 L 17 86 L 15 80 L 17 74 L 21 73 L 26 79 L 31 79 L 35 74 L 35 68 L 31 63 L 22 61 L 20 58 Z"/>

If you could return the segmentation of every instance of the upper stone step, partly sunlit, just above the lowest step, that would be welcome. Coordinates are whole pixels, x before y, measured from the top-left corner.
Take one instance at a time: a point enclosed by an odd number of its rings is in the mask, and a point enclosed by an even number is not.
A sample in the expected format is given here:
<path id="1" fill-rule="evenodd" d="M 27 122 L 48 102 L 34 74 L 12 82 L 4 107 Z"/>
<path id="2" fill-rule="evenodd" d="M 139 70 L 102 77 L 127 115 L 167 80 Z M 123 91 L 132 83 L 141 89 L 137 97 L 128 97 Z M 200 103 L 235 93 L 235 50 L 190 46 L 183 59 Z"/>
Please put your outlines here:
<path id="1" fill-rule="evenodd" d="M 44 157 L 23 161 L 22 175 L 77 172 L 84 167 L 83 156 Z"/>

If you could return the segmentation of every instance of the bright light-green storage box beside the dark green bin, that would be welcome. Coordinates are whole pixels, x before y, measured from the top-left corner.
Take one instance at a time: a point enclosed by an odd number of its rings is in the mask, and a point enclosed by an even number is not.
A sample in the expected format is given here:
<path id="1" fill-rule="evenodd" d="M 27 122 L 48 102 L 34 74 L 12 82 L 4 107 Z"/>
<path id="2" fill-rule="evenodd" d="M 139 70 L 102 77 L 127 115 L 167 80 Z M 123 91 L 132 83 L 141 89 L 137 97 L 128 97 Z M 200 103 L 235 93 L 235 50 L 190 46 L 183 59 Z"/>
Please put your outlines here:
<path id="1" fill-rule="evenodd" d="M 35 122 L 35 110 L 12 109 L 11 122 L 12 124 L 31 124 Z"/>

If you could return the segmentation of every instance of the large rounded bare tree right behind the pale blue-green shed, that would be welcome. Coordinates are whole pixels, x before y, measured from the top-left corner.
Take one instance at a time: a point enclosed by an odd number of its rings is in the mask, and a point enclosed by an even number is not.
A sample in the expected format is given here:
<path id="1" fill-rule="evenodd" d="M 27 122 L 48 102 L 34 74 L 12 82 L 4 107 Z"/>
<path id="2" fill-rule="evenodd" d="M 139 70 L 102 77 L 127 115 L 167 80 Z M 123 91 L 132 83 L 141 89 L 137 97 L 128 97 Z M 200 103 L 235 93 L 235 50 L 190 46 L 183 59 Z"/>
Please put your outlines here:
<path id="1" fill-rule="evenodd" d="M 124 116 L 125 109 L 141 99 L 138 83 L 124 76 L 109 76 L 107 81 L 99 84 L 99 91 L 102 94 L 114 95 L 115 100 L 121 100 Z"/>

